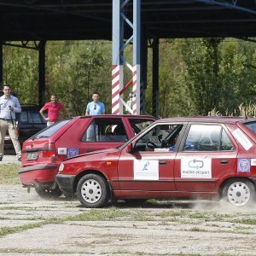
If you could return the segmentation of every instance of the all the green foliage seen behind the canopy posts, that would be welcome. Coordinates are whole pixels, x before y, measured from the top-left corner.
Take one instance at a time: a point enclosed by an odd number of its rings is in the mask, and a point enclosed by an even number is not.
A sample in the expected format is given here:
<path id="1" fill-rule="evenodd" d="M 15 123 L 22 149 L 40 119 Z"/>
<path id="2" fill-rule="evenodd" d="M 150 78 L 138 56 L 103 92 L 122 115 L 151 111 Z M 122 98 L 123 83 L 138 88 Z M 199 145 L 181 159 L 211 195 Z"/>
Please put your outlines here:
<path id="1" fill-rule="evenodd" d="M 45 97 L 56 94 L 70 116 L 84 114 L 98 90 L 111 113 L 112 45 L 107 41 L 53 41 L 46 44 Z M 132 47 L 125 49 L 132 63 Z M 145 113 L 152 113 L 152 50 L 148 48 Z M 21 104 L 38 104 L 38 51 L 3 47 L 3 79 Z M 242 115 L 256 104 L 256 49 L 234 38 L 160 40 L 160 117 Z M 124 84 L 132 77 L 124 66 Z M 128 89 L 124 101 L 128 100 Z M 242 104 L 242 108 L 241 108 Z M 251 107 L 250 107 L 251 106 Z M 247 111 L 247 110 L 246 110 Z M 251 111 L 251 110 L 250 110 Z"/>

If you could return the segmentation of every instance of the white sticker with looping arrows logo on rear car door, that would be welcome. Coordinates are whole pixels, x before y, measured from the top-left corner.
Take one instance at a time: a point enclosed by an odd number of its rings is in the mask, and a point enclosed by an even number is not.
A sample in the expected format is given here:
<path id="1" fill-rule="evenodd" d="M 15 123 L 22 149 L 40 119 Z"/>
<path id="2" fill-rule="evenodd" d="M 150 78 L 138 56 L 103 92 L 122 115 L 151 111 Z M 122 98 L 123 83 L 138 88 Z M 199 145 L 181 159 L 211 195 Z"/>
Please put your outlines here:
<path id="1" fill-rule="evenodd" d="M 212 159 L 190 158 L 181 160 L 181 177 L 212 177 Z"/>

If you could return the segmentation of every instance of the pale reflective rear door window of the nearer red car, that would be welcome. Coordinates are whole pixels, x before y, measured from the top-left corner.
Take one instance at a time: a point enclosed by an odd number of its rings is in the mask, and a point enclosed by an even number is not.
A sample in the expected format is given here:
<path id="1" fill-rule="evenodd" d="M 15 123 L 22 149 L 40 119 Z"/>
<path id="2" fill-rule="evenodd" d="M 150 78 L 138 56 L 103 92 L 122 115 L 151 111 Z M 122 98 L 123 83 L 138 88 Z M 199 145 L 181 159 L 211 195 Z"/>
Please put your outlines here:
<path id="1" fill-rule="evenodd" d="M 183 151 L 233 149 L 234 146 L 221 125 L 191 125 Z"/>

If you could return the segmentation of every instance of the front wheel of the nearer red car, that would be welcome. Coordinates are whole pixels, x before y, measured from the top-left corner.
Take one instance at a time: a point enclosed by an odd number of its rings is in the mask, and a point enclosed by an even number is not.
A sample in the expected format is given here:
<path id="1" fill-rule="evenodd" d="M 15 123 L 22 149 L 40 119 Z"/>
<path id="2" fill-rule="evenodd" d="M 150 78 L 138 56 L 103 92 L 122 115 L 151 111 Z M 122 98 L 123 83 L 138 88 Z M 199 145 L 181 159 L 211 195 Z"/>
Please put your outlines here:
<path id="1" fill-rule="evenodd" d="M 100 208 L 108 203 L 110 190 L 105 178 L 96 174 L 86 174 L 79 180 L 77 195 L 84 207 Z"/>

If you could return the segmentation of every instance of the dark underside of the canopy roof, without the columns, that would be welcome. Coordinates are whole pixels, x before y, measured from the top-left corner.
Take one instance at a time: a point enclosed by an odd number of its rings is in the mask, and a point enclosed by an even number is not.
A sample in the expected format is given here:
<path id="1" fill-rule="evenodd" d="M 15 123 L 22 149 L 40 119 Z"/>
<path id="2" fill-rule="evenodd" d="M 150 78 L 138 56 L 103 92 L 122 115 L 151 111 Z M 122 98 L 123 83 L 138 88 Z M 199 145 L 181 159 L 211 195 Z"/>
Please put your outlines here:
<path id="1" fill-rule="evenodd" d="M 111 0 L 1 0 L 0 40 L 111 40 L 112 6 Z M 132 11 L 127 4 L 130 19 Z M 253 37 L 255 11 L 255 0 L 141 0 L 141 25 L 150 38 Z"/>

